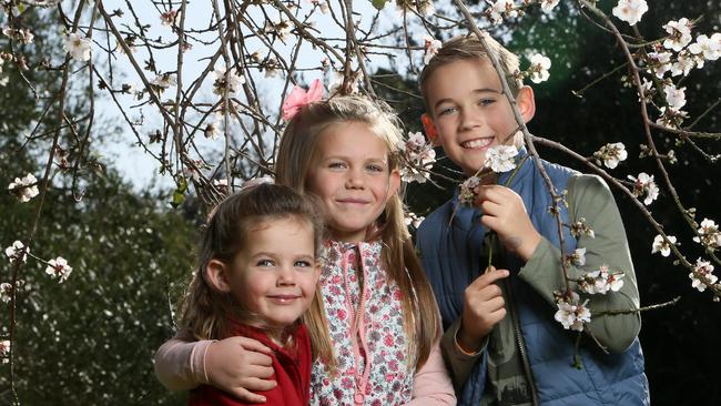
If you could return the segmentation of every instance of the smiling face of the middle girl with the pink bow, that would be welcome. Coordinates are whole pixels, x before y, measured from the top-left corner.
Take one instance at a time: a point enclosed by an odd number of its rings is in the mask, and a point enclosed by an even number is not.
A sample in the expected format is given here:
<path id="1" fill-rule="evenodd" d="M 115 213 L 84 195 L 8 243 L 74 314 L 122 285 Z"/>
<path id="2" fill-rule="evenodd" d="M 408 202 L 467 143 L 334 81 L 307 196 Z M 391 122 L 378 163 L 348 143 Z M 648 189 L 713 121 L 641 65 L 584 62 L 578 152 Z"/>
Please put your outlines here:
<path id="1" fill-rule="evenodd" d="M 318 142 L 306 189 L 321 200 L 334 238 L 360 242 L 400 185 L 388 146 L 367 124 L 339 123 Z"/>

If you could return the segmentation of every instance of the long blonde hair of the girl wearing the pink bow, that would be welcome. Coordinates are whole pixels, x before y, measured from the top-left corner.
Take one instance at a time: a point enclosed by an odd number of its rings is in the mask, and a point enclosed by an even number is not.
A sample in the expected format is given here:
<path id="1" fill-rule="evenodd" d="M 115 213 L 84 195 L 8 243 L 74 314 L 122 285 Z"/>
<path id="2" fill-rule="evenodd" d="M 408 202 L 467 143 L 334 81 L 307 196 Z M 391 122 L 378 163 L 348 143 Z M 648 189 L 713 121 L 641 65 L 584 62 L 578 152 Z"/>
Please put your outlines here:
<path id="1" fill-rule="evenodd" d="M 305 105 L 291 120 L 281 139 L 275 163 L 276 182 L 305 193 L 306 179 L 323 134 L 333 125 L 348 122 L 366 124 L 370 132 L 385 141 L 389 170 L 398 169 L 397 143 L 402 141 L 402 133 L 397 116 L 383 102 L 344 95 Z M 375 225 L 377 232 L 374 236 L 379 236 L 384 243 L 383 260 L 388 276 L 398 285 L 402 294 L 404 329 L 410 338 L 409 354 L 415 356 L 416 367 L 419 368 L 438 339 L 440 324 L 430 285 L 404 221 L 398 194 L 388 200 Z M 335 362 L 333 347 L 321 356 Z"/>

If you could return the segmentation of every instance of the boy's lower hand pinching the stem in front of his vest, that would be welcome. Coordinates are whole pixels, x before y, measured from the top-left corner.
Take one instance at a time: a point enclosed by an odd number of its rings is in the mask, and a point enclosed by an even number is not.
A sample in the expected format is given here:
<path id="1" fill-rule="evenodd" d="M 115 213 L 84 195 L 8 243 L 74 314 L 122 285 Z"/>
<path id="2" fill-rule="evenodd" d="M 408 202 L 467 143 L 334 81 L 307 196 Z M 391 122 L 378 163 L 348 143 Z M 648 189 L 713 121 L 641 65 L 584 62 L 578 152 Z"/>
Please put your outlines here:
<path id="1" fill-rule="evenodd" d="M 464 351 L 477 352 L 484 337 L 506 316 L 504 296 L 496 281 L 507 276 L 508 271 L 497 271 L 491 266 L 466 287 L 464 315 L 457 335 Z"/>

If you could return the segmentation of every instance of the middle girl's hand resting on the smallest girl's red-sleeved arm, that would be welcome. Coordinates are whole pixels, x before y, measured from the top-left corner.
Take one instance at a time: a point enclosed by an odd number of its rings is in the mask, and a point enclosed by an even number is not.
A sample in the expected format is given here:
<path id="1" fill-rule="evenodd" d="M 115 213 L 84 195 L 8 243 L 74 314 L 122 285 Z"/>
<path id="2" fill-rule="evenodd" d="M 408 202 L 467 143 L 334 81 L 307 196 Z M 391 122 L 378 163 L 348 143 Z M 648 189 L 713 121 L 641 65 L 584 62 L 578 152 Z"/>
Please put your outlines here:
<path id="1" fill-rule="evenodd" d="M 273 375 L 272 351 L 253 338 L 230 337 L 211 344 L 205 354 L 205 371 L 211 385 L 241 400 L 264 403 L 262 392 L 277 383 L 267 380 Z"/>

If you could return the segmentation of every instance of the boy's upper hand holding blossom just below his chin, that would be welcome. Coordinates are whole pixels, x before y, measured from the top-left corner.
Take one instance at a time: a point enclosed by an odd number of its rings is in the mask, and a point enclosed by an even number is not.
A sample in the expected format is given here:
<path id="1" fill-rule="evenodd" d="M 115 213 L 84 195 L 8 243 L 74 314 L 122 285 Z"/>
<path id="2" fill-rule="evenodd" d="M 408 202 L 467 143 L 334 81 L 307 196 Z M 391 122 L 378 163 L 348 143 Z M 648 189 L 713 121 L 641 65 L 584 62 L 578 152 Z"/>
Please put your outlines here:
<path id="1" fill-rule="evenodd" d="M 477 196 L 476 204 L 484 214 L 480 223 L 498 233 L 506 248 L 528 261 L 541 236 L 530 222 L 520 196 L 499 185 L 480 186 Z"/>

